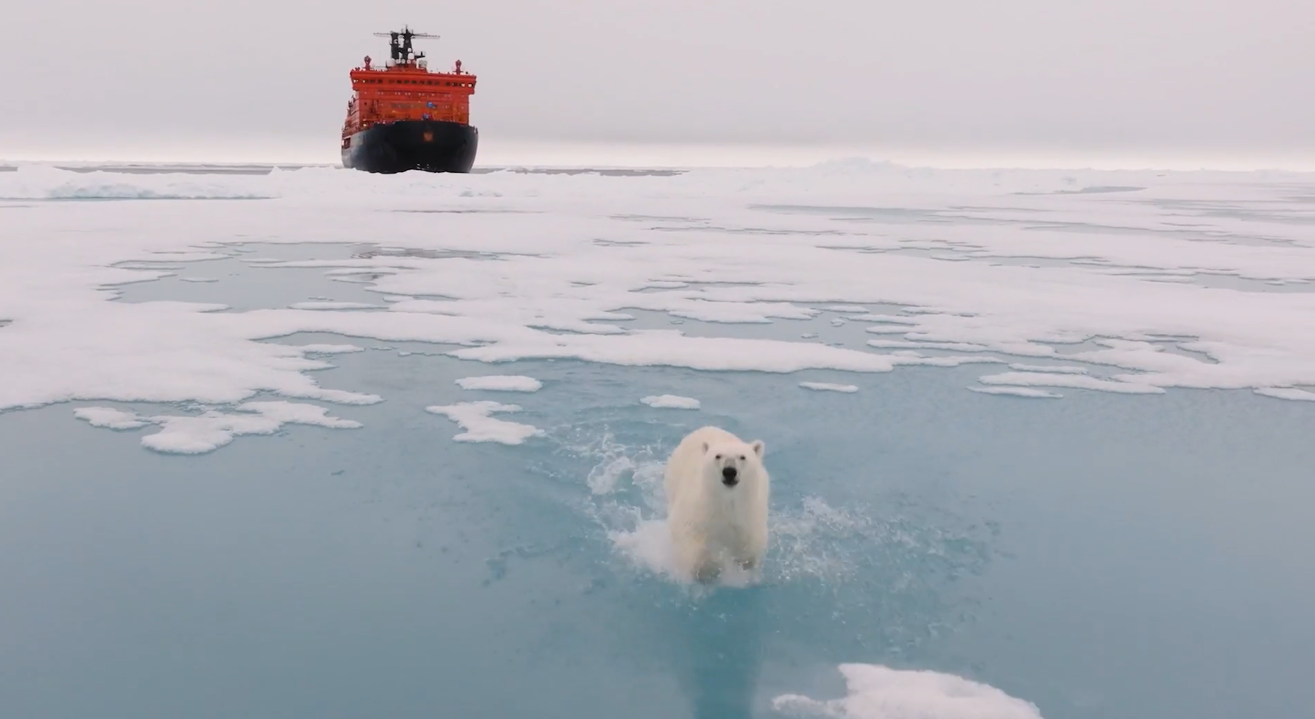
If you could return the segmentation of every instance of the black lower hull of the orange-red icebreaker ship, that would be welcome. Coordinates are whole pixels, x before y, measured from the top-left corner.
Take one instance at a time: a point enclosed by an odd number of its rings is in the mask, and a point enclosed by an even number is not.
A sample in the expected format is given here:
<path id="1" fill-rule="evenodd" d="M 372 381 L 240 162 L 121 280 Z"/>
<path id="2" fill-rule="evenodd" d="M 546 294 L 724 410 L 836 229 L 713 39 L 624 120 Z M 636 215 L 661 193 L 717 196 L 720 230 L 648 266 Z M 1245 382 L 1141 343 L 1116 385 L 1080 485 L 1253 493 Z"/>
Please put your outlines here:
<path id="1" fill-rule="evenodd" d="M 469 172 L 480 131 L 460 122 L 400 120 L 343 141 L 342 166 L 366 172 Z"/>

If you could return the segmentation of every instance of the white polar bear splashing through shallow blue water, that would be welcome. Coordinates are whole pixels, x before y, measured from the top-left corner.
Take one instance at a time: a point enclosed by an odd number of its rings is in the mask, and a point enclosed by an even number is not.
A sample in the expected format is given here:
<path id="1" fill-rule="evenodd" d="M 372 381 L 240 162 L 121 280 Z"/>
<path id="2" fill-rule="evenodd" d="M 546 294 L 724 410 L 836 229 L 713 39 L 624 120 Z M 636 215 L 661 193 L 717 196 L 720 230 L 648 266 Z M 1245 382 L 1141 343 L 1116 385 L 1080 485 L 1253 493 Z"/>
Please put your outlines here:
<path id="1" fill-rule="evenodd" d="M 682 578 L 709 582 L 731 563 L 757 573 L 771 490 L 764 448 L 761 440 L 701 427 L 672 451 L 664 476 L 667 526 Z"/>

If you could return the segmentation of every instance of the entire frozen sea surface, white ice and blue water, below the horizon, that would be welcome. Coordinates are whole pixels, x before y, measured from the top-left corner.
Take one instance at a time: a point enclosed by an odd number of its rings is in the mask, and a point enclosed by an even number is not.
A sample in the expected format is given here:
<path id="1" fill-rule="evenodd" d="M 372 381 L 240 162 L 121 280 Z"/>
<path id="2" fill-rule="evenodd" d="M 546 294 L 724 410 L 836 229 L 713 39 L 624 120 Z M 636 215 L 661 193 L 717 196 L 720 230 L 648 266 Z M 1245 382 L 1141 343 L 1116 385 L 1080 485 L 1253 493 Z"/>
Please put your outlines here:
<path id="1" fill-rule="evenodd" d="M 1304 707 L 1304 176 L 26 170 L 16 714 Z M 664 573 L 709 423 L 757 586 Z"/>

